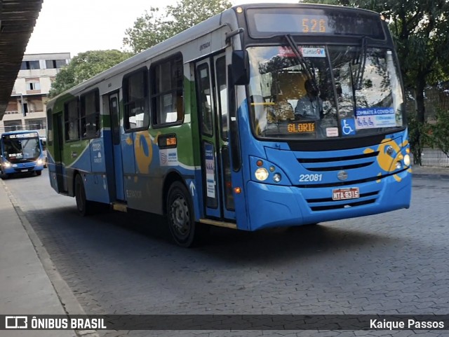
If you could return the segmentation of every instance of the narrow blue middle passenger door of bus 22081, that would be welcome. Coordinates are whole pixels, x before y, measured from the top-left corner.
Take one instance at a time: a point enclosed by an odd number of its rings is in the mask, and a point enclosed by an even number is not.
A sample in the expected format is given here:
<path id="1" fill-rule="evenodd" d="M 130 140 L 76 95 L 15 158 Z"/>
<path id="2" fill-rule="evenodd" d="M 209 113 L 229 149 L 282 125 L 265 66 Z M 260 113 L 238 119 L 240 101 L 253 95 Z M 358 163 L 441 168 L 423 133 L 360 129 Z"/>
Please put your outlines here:
<path id="1" fill-rule="evenodd" d="M 125 200 L 123 191 L 123 166 L 120 142 L 119 93 L 109 95 L 109 115 L 111 117 L 112 156 L 114 158 L 114 179 L 116 200 Z"/>

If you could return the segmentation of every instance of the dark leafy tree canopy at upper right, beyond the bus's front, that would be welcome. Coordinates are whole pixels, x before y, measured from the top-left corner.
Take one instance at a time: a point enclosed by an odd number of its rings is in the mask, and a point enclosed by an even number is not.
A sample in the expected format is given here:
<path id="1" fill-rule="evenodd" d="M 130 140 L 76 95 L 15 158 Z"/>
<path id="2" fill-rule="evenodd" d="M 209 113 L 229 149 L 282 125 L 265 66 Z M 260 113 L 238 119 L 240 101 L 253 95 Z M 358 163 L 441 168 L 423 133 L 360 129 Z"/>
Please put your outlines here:
<path id="1" fill-rule="evenodd" d="M 415 92 L 417 122 L 424 123 L 424 88 L 449 79 L 448 0 L 313 0 L 382 13 L 396 42 L 403 80 Z"/>

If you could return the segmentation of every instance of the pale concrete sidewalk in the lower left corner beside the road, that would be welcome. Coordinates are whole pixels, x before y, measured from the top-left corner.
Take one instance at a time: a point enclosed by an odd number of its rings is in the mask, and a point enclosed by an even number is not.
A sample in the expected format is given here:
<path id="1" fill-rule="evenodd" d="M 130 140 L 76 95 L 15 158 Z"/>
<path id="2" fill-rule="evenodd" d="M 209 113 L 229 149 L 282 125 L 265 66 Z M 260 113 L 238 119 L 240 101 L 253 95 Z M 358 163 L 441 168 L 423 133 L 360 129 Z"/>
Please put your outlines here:
<path id="1" fill-rule="evenodd" d="M 0 181 L 0 315 L 65 315 L 46 270 Z M 74 337 L 75 331 L 0 331 L 2 337 Z"/>

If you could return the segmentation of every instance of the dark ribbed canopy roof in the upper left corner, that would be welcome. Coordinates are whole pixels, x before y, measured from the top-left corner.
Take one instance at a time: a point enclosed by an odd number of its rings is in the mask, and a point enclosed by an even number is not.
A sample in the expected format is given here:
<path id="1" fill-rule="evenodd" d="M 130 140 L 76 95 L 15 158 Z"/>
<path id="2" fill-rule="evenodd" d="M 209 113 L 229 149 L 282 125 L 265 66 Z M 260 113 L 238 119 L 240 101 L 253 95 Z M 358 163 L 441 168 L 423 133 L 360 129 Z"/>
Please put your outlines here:
<path id="1" fill-rule="evenodd" d="M 43 0 L 0 0 L 0 119 L 8 105 Z"/>

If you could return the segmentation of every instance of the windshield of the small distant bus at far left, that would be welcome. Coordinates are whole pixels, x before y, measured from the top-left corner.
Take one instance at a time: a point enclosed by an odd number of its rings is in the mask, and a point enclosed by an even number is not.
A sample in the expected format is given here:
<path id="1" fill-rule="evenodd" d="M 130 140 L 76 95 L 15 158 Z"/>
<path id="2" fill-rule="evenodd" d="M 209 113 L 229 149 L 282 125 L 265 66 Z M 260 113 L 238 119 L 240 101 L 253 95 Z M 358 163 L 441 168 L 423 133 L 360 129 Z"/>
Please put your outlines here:
<path id="1" fill-rule="evenodd" d="M 25 163 L 37 160 L 41 155 L 39 137 L 4 138 L 3 155 L 10 163 Z"/>

